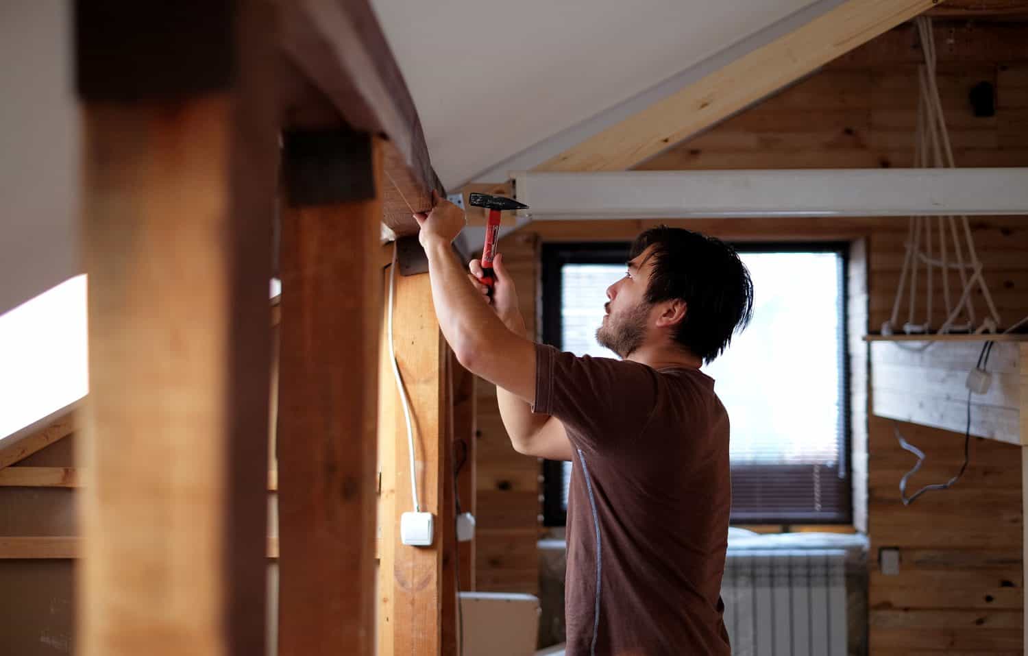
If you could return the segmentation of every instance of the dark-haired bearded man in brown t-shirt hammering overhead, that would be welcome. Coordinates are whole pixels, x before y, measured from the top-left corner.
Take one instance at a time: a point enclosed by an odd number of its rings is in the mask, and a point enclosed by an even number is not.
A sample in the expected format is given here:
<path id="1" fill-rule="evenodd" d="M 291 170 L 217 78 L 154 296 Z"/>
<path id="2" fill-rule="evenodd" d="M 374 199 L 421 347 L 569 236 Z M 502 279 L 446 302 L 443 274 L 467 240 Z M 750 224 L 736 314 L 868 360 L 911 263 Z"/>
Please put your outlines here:
<path id="1" fill-rule="evenodd" d="M 622 360 L 578 358 L 525 338 L 502 255 L 482 302 L 484 286 L 469 284 L 450 249 L 465 225 L 458 208 L 439 202 L 414 218 L 443 335 L 497 385 L 514 448 L 573 463 L 568 656 L 730 654 L 729 424 L 699 368 L 749 320 L 752 284 L 738 255 L 688 230 L 644 232 L 596 331 Z"/>

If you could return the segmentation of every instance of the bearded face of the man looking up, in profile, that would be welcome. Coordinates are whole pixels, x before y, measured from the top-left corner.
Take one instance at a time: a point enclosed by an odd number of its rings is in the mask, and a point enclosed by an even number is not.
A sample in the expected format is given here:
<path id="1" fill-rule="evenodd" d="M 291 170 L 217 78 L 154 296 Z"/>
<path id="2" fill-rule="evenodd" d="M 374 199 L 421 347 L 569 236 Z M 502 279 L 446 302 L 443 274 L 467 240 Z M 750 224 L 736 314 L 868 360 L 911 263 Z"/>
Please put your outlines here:
<path id="1" fill-rule="evenodd" d="M 596 341 L 627 358 L 646 341 L 650 311 L 646 290 L 653 268 L 651 246 L 628 262 L 625 277 L 607 288 L 607 315 L 596 330 Z"/>

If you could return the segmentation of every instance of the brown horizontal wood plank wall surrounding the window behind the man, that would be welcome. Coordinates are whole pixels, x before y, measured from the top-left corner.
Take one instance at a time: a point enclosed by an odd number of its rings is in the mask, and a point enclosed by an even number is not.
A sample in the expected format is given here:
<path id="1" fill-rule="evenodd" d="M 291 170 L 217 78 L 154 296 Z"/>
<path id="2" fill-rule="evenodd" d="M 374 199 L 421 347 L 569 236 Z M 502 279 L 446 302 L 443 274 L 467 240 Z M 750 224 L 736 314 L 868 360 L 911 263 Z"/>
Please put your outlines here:
<path id="1" fill-rule="evenodd" d="M 935 35 L 940 87 L 957 165 L 1028 166 L 1028 26 L 937 23 Z M 913 160 L 919 57 L 911 26 L 897 28 L 640 169 L 908 167 Z M 976 117 L 971 112 L 967 94 L 982 81 L 995 85 L 995 116 Z M 651 223 L 536 223 L 530 232 L 516 238 L 525 244 L 621 240 Z M 971 223 L 988 262 L 986 278 L 1008 325 L 1028 314 L 1028 217 L 976 218 Z M 877 332 L 890 314 L 903 263 L 903 219 L 732 219 L 682 225 L 737 240 L 867 238 L 867 328 Z M 520 257 L 510 239 L 504 248 Z M 523 256 L 529 257 L 530 249 Z M 519 259 L 519 290 L 526 292 L 530 286 L 538 295 L 537 281 L 538 268 Z M 858 284 L 850 291 L 864 292 Z M 937 309 L 934 323 L 941 322 Z M 524 458 L 503 443 L 499 416 L 490 414 L 485 400 L 480 400 L 479 420 L 479 587 L 535 591 L 538 570 L 530 529 L 539 506 L 531 498 L 539 488 L 531 477 L 539 470 L 529 470 Z M 912 486 L 946 480 L 959 469 L 962 435 L 901 428 L 927 453 Z M 868 429 L 871 653 L 1021 653 L 1018 448 L 972 440 L 970 467 L 954 489 L 925 495 L 905 507 L 897 483 L 914 459 L 897 446 L 891 422 L 872 415 Z M 504 481 L 511 485 L 506 491 L 500 489 Z M 900 547 L 898 576 L 878 572 L 877 550 L 882 546 Z"/>

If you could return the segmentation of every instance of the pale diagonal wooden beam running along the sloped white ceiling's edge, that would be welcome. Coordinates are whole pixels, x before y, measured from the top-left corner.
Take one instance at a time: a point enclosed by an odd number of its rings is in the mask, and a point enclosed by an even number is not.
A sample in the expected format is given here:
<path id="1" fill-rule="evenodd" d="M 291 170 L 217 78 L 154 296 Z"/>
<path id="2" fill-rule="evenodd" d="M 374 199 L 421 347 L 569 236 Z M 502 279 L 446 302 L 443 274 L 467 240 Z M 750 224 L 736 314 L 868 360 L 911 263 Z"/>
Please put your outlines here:
<path id="1" fill-rule="evenodd" d="M 537 170 L 631 169 L 937 4 L 938 0 L 847 0 Z"/>

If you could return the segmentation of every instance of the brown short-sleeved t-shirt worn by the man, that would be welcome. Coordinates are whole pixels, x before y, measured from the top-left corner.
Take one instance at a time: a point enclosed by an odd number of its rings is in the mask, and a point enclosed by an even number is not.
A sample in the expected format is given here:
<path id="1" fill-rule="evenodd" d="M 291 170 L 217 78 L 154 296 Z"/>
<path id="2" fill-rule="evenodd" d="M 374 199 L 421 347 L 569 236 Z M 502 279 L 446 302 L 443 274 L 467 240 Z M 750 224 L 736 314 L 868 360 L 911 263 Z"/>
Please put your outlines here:
<path id="1" fill-rule="evenodd" d="M 730 655 L 728 414 L 697 369 L 536 349 L 533 410 L 564 425 L 567 656 Z"/>

